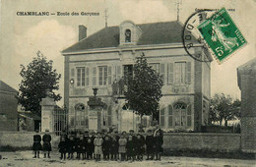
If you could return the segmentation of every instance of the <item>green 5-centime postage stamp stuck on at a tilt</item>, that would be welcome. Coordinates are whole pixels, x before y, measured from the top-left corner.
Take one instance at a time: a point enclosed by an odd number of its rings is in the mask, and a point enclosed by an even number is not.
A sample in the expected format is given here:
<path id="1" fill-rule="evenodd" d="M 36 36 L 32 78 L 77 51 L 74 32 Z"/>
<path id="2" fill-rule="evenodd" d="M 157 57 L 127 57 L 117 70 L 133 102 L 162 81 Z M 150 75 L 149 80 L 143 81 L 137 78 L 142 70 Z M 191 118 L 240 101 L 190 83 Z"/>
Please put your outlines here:
<path id="1" fill-rule="evenodd" d="M 247 43 L 224 8 L 197 28 L 220 62 Z"/>

